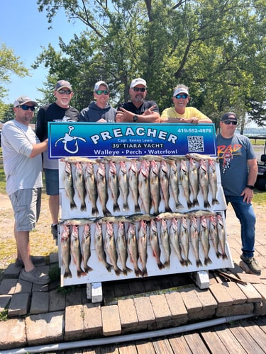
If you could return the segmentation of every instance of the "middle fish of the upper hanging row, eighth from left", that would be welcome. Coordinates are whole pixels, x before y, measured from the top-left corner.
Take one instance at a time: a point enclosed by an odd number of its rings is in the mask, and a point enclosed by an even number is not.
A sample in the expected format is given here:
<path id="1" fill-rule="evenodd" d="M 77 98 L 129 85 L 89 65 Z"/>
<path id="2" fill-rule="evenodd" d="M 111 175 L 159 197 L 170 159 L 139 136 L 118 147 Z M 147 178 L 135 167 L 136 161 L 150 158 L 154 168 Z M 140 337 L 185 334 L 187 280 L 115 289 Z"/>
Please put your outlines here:
<path id="1" fill-rule="evenodd" d="M 148 161 L 141 161 L 138 171 L 138 193 L 143 202 L 143 209 L 146 214 L 150 214 L 150 183 L 149 183 Z"/>

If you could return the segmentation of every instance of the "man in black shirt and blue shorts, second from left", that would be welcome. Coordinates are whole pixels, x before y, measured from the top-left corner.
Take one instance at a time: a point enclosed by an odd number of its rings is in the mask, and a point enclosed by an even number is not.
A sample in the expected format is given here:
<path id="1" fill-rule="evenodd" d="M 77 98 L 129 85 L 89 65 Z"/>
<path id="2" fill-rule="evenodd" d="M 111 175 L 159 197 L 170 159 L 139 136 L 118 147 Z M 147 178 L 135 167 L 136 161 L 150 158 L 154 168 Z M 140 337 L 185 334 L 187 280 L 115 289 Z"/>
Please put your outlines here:
<path id="1" fill-rule="evenodd" d="M 40 107 L 37 115 L 36 135 L 43 142 L 48 137 L 48 122 L 76 121 L 79 111 L 70 105 L 74 96 L 69 81 L 59 80 L 53 91 L 56 101 Z M 57 159 L 49 159 L 48 152 L 43 153 L 46 193 L 49 195 L 49 208 L 52 218 L 51 233 L 57 242 L 57 225 L 59 222 L 59 166 Z"/>

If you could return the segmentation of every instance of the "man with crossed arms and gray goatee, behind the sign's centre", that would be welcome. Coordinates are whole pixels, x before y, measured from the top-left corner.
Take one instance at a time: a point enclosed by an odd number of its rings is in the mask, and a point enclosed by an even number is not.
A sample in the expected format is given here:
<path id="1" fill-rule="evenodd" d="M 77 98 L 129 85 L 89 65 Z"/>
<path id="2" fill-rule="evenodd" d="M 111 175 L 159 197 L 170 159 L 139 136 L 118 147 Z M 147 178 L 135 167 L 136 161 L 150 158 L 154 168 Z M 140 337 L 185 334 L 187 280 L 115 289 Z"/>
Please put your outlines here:
<path id="1" fill-rule="evenodd" d="M 147 84 L 138 77 L 131 81 L 129 89 L 131 102 L 119 105 L 116 113 L 116 122 L 159 122 L 160 113 L 155 101 L 145 101 Z"/>

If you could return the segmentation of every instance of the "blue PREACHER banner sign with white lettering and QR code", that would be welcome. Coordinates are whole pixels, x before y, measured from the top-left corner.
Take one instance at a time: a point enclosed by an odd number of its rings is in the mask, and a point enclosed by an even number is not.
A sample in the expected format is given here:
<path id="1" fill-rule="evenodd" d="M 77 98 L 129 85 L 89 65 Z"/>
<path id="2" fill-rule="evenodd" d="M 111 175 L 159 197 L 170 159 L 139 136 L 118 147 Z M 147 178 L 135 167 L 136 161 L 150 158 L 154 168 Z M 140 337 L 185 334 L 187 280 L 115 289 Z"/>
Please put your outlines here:
<path id="1" fill-rule="evenodd" d="M 216 156 L 215 125 L 49 122 L 49 157 Z"/>

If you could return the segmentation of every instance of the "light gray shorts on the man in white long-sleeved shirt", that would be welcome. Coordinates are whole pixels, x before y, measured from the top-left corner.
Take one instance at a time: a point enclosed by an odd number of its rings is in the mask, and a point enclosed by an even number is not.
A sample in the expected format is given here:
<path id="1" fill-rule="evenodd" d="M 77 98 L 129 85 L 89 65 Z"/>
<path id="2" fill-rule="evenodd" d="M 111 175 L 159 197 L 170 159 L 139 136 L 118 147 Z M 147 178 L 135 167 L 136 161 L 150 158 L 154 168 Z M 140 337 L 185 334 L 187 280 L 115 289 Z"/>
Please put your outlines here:
<path id="1" fill-rule="evenodd" d="M 31 231 L 40 216 L 41 188 L 19 189 L 9 195 L 13 207 L 16 231 Z"/>

